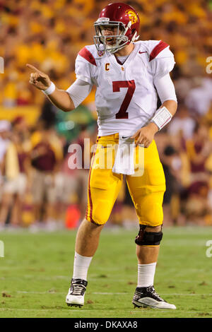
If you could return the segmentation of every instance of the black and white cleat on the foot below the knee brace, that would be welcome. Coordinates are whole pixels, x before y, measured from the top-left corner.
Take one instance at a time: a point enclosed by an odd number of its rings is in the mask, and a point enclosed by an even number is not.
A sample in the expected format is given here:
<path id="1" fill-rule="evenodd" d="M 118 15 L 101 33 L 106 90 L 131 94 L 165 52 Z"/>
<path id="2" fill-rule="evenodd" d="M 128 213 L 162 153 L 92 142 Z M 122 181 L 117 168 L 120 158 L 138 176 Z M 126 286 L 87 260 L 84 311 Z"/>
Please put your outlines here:
<path id="1" fill-rule="evenodd" d="M 134 304 L 134 307 L 176 309 L 175 304 L 165 302 L 165 300 L 155 292 L 154 286 L 136 287 L 132 303 Z"/>

